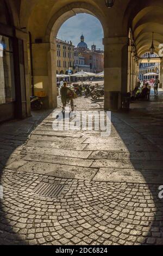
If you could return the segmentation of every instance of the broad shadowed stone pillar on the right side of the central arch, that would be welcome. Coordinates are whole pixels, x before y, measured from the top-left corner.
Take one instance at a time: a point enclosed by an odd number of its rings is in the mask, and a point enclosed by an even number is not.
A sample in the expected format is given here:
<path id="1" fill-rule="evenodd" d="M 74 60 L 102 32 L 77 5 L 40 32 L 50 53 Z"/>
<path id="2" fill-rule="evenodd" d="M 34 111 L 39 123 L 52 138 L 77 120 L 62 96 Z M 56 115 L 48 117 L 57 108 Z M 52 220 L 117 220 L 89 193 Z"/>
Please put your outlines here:
<path id="1" fill-rule="evenodd" d="M 121 108 L 121 93 L 127 92 L 128 37 L 104 38 L 104 108 L 117 111 Z M 112 93 L 119 92 L 112 109 Z"/>

